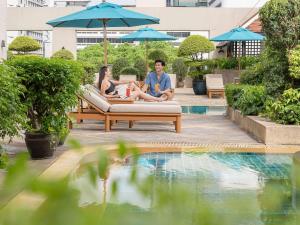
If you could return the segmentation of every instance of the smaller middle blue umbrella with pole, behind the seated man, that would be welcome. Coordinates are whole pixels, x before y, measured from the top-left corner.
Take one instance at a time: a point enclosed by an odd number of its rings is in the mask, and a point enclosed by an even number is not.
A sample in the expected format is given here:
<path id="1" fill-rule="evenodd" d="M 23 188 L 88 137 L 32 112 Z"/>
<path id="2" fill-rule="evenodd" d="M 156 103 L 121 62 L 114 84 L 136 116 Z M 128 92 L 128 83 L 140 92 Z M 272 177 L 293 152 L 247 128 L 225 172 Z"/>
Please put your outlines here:
<path id="1" fill-rule="evenodd" d="M 141 28 L 131 34 L 125 35 L 120 38 L 124 41 L 144 41 L 146 43 L 146 66 L 148 70 L 148 41 L 170 41 L 176 40 L 175 37 L 161 33 L 153 28 Z"/>

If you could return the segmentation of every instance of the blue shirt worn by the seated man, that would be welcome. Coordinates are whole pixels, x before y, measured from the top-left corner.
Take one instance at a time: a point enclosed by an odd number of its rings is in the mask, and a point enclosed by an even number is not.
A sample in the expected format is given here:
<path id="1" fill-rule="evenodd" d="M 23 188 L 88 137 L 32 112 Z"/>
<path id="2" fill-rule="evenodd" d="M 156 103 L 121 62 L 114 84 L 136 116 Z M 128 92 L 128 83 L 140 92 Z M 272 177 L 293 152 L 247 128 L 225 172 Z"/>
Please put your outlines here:
<path id="1" fill-rule="evenodd" d="M 149 85 L 150 91 L 149 94 L 152 96 L 160 96 L 159 92 L 155 91 L 155 85 L 159 85 L 159 90 L 164 91 L 171 88 L 171 79 L 167 73 L 163 73 L 160 76 L 160 79 L 157 79 L 155 72 L 150 72 L 146 78 L 146 84 Z"/>

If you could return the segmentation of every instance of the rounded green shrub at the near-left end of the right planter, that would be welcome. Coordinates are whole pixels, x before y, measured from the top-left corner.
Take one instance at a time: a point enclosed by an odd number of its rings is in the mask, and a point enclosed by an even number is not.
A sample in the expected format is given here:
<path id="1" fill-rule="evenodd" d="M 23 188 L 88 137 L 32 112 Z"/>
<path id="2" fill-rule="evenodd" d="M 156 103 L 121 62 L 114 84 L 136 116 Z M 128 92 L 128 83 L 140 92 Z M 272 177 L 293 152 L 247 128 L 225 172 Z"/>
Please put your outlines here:
<path id="1" fill-rule="evenodd" d="M 263 86 L 245 86 L 237 100 L 233 103 L 234 108 L 239 109 L 243 115 L 258 115 L 265 110 L 266 90 Z"/>

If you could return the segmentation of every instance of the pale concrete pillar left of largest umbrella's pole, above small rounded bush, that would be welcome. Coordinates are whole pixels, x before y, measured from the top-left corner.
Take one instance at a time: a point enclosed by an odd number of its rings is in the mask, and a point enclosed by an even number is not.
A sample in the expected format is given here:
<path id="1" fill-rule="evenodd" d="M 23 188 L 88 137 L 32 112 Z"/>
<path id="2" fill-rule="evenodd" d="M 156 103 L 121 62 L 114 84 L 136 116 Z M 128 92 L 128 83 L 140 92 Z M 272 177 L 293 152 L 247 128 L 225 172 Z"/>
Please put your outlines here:
<path id="1" fill-rule="evenodd" d="M 77 58 L 77 47 L 76 47 L 76 30 L 65 29 L 65 28 L 54 28 L 53 29 L 53 53 L 62 49 L 69 50 L 73 53 L 75 59 Z"/>

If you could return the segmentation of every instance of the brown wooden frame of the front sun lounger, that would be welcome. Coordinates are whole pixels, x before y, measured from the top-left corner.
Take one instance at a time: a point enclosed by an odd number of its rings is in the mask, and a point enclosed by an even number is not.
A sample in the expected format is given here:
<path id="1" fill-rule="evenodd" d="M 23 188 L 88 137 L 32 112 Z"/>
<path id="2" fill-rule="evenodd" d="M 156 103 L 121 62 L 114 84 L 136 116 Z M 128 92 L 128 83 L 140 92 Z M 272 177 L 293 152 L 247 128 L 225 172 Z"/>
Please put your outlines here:
<path id="1" fill-rule="evenodd" d="M 77 112 L 70 112 L 69 116 L 74 117 L 77 123 L 82 120 L 104 121 L 105 131 L 109 132 L 114 121 L 129 121 L 129 128 L 132 128 L 133 121 L 171 121 L 175 125 L 177 133 L 181 132 L 180 113 L 125 113 L 125 112 L 104 112 L 87 99 L 78 96 L 79 104 Z M 88 104 L 88 108 L 83 107 L 83 102 Z"/>

